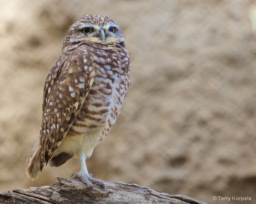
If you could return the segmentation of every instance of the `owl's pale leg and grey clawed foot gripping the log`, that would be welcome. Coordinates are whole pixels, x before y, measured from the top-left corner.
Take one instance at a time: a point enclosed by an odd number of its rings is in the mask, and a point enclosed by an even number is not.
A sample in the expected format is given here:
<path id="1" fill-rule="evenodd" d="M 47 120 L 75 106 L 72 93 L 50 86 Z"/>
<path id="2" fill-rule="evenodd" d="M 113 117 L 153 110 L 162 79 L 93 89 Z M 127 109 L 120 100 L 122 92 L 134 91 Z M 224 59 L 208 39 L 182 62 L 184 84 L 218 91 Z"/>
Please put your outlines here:
<path id="1" fill-rule="evenodd" d="M 94 179 L 92 178 L 92 174 L 89 174 L 85 164 L 85 159 L 86 157 L 84 155 L 84 152 L 80 152 L 78 155 L 78 161 L 80 164 L 81 171 L 73 173 L 72 177 L 74 176 L 81 179 L 81 181 L 83 181 L 85 184 L 90 185 L 92 190 L 93 190 L 92 184 L 99 184 L 104 188 L 104 190 L 106 190 L 106 186 L 102 180 Z"/>

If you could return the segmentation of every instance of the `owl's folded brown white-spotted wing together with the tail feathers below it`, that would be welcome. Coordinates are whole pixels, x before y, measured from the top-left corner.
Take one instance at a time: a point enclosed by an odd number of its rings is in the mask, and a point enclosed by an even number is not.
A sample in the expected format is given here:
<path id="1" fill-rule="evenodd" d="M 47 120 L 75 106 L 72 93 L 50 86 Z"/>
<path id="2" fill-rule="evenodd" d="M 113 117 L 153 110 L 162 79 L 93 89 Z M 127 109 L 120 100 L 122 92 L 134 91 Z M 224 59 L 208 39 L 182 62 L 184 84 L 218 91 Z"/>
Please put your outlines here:
<path id="1" fill-rule="evenodd" d="M 40 136 L 28 157 L 32 180 L 63 141 L 93 83 L 90 54 L 81 47 L 62 54 L 46 78 Z"/>

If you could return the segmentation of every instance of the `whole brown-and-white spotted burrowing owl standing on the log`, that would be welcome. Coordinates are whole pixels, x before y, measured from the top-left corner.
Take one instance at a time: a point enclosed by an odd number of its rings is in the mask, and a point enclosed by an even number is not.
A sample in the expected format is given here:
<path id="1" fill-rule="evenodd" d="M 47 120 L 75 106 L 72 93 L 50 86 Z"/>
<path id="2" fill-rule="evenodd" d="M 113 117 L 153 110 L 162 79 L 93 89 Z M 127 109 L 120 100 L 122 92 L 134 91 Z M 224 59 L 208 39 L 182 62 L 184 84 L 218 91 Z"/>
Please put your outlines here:
<path id="1" fill-rule="evenodd" d="M 58 167 L 77 157 L 81 171 L 73 176 L 105 188 L 88 173 L 85 159 L 116 121 L 130 65 L 124 36 L 112 19 L 88 15 L 70 27 L 44 84 L 43 121 L 27 160 L 29 178 L 37 179 L 48 162 Z"/>

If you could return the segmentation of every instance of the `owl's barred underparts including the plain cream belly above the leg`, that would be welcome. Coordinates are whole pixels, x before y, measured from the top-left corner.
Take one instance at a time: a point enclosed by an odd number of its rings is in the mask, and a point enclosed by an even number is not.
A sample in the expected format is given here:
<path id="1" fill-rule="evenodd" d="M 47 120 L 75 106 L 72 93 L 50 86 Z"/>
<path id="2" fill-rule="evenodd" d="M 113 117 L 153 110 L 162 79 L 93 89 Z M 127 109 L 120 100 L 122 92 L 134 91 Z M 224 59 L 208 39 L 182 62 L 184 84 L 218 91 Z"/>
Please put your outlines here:
<path id="1" fill-rule="evenodd" d="M 82 149 L 86 157 L 90 157 L 93 148 L 107 135 L 115 123 L 127 86 L 118 74 L 105 76 L 100 70 L 95 72 L 95 78 L 85 102 L 63 140 L 64 144 L 68 141 L 70 146 L 64 145 L 65 151 Z"/>

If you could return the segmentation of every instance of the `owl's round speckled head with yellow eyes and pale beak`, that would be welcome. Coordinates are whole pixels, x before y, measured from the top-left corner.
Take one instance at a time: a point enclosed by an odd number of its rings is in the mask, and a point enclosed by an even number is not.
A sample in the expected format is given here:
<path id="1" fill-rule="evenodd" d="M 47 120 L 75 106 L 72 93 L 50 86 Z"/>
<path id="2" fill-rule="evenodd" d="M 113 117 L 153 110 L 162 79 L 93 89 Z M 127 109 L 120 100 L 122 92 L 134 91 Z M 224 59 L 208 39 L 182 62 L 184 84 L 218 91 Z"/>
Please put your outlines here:
<path id="1" fill-rule="evenodd" d="M 92 46 L 108 49 L 124 42 L 119 25 L 112 19 L 100 15 L 86 15 L 74 23 L 63 41 L 62 51 L 69 45 L 85 42 Z"/>

